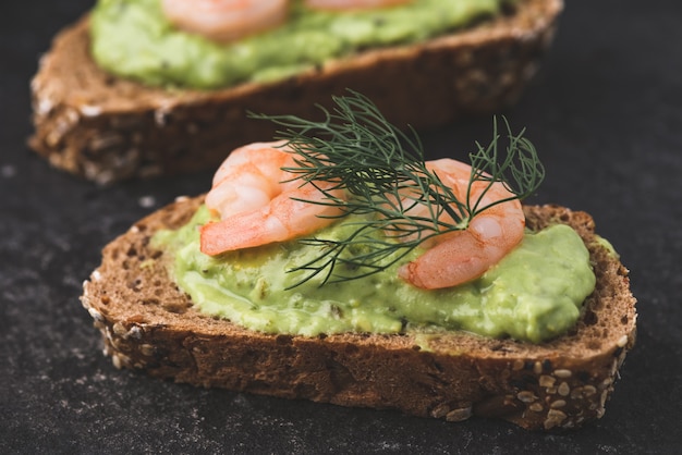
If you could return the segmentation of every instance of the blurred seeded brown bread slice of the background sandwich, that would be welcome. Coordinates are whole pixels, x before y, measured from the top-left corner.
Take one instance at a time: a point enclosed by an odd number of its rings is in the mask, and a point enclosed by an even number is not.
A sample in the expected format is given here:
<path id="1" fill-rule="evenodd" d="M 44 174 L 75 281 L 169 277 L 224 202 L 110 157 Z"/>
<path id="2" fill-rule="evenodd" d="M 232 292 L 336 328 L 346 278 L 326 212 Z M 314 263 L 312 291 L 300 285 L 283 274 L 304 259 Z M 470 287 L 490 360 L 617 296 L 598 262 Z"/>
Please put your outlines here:
<path id="1" fill-rule="evenodd" d="M 562 0 L 513 12 L 423 45 L 363 52 L 273 84 L 166 90 L 111 76 L 89 54 L 88 19 L 60 33 L 32 83 L 29 146 L 99 183 L 218 165 L 272 137 L 247 111 L 315 118 L 315 103 L 352 88 L 397 125 L 427 127 L 513 103 L 549 47 Z"/>

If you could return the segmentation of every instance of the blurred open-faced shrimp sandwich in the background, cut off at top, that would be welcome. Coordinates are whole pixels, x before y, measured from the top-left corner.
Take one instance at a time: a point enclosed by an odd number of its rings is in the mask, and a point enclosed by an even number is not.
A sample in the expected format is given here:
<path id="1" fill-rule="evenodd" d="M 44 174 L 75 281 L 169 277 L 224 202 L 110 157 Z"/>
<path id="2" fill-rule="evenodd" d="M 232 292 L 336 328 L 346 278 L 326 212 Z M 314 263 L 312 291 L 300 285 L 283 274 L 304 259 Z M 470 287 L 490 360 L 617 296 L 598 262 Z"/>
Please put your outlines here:
<path id="1" fill-rule="evenodd" d="M 100 183 L 218 165 L 352 88 L 415 127 L 515 101 L 562 0 L 99 0 L 33 79 L 32 148 Z"/>

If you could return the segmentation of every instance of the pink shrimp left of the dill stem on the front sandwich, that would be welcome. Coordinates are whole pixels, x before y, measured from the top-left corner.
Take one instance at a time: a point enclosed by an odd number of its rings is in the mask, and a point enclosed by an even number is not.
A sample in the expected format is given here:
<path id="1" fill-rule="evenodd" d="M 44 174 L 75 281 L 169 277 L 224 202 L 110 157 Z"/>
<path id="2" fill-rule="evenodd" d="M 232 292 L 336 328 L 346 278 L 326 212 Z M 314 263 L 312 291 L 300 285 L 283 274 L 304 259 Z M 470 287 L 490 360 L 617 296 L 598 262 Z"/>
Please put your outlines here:
<path id="1" fill-rule="evenodd" d="M 328 182 L 302 182 L 283 171 L 292 155 L 282 143 L 256 143 L 238 148 L 216 172 L 206 206 L 220 221 L 202 228 L 200 249 L 207 255 L 283 242 L 330 224 L 340 209 L 321 190 L 343 198 Z M 302 199 L 302 200 L 297 200 Z M 310 204 L 309 201 L 320 202 Z"/>

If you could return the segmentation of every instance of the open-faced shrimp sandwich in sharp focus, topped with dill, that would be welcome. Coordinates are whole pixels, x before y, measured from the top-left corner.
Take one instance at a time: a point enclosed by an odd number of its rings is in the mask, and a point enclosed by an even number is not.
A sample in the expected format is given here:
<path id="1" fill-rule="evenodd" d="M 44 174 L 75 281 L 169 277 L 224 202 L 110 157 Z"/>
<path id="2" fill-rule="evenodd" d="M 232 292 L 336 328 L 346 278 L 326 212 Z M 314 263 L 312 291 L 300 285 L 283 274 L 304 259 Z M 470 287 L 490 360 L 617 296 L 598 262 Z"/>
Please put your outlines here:
<path id="1" fill-rule="evenodd" d="M 334 100 L 269 116 L 279 140 L 103 249 L 82 303 L 113 364 L 447 420 L 601 417 L 635 299 L 587 213 L 521 204 L 533 145 L 507 125 L 471 165 L 426 161 L 368 99 Z"/>

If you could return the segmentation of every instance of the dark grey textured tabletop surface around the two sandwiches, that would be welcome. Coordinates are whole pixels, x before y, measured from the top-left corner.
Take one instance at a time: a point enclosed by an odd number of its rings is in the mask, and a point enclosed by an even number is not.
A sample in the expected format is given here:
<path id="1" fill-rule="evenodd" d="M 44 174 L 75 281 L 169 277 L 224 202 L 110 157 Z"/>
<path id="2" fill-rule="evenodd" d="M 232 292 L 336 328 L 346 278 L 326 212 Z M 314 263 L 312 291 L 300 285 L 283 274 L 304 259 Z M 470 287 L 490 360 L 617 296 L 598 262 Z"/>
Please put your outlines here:
<path id="1" fill-rule="evenodd" d="M 99 188 L 29 152 L 28 81 L 92 2 L 0 5 L 0 453 L 677 453 L 682 404 L 682 7 L 571 2 L 520 104 L 548 177 L 534 202 L 594 214 L 631 269 L 640 337 L 606 416 L 570 433 L 446 423 L 198 390 L 115 370 L 78 303 L 99 249 L 210 173 Z M 424 133 L 434 156 L 489 119 Z"/>

